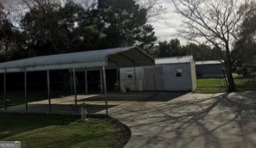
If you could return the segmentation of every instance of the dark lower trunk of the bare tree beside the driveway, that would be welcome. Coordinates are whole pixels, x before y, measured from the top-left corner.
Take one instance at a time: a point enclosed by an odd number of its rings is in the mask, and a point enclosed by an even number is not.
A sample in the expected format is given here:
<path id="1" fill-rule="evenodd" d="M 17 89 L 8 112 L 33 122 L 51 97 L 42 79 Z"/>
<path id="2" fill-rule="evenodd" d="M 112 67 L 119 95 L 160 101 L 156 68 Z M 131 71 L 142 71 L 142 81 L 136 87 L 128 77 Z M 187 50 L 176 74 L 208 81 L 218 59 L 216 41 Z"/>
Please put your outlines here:
<path id="1" fill-rule="evenodd" d="M 225 64 L 226 64 L 227 82 L 228 82 L 227 90 L 228 91 L 235 91 L 234 77 L 232 75 L 232 65 L 231 65 L 231 61 L 230 61 L 230 52 L 229 52 L 228 44 L 226 46 L 226 61 L 225 61 Z"/>

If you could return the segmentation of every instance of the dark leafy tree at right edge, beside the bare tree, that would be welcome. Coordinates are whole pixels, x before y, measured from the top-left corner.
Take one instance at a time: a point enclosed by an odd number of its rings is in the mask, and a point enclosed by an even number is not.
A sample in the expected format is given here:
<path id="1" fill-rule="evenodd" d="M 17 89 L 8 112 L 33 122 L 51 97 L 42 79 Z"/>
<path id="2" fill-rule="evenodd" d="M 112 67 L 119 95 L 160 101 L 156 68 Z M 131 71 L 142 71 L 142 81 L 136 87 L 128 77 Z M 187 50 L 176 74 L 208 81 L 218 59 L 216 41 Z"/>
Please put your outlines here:
<path id="1" fill-rule="evenodd" d="M 234 71 L 250 76 L 256 73 L 256 2 L 252 1 L 243 7 L 246 15 L 240 25 L 231 57 Z"/>

